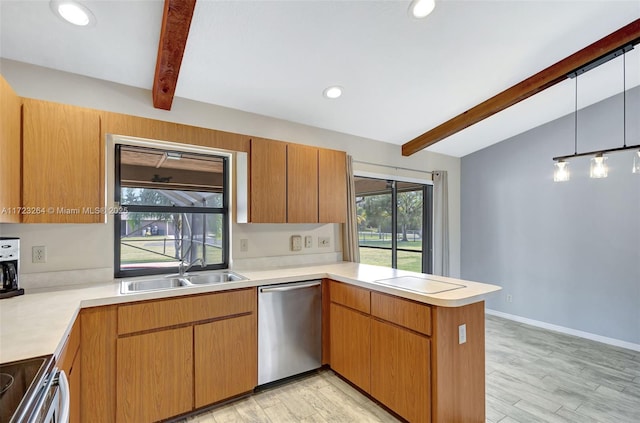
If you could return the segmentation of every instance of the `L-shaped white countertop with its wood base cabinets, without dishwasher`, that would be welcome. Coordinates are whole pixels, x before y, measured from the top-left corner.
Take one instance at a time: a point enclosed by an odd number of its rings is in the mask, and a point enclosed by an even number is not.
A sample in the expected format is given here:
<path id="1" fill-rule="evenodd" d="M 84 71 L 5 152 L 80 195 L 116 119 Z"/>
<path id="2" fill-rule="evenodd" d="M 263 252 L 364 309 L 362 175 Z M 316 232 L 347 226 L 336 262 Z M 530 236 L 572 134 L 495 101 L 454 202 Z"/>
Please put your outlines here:
<path id="1" fill-rule="evenodd" d="M 108 281 L 4 300 L 0 361 L 60 358 L 79 339 L 80 421 L 185 415 L 257 385 L 258 285 L 323 279 L 323 364 L 409 421 L 484 421 L 484 298 L 498 286 L 346 262 L 241 273 L 247 280 L 128 295 Z M 417 279 L 456 289 L 422 293 Z M 137 383 L 148 383 L 142 397 Z"/>

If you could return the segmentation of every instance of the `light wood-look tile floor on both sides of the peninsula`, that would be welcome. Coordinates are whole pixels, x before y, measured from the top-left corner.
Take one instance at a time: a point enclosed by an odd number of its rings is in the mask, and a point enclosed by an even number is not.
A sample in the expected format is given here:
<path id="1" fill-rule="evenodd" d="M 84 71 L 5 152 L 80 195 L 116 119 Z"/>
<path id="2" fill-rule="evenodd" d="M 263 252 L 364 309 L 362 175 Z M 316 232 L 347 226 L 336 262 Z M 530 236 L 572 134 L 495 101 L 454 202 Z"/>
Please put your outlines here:
<path id="1" fill-rule="evenodd" d="M 486 351 L 487 423 L 640 422 L 640 352 L 494 316 Z M 325 370 L 186 422 L 398 420 Z"/>

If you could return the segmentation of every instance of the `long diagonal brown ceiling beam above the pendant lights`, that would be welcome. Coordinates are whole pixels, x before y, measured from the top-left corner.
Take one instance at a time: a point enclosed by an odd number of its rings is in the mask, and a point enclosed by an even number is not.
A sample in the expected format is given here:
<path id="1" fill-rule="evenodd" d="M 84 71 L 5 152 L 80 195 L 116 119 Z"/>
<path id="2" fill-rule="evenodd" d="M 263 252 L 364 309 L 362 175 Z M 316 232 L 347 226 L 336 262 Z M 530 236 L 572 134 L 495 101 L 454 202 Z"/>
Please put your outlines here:
<path id="1" fill-rule="evenodd" d="M 535 75 L 402 145 L 410 156 L 568 78 L 568 75 L 628 44 L 640 43 L 640 19 L 588 45 Z"/>

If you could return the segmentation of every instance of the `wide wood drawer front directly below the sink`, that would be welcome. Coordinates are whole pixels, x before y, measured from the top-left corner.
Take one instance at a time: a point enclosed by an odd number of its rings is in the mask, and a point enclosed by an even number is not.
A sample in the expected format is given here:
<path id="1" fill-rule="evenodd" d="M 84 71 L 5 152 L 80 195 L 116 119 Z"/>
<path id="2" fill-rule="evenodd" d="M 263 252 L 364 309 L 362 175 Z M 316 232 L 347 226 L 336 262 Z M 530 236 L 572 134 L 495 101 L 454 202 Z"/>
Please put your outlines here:
<path id="1" fill-rule="evenodd" d="M 118 334 L 254 312 L 255 288 L 146 301 L 118 307 Z"/>

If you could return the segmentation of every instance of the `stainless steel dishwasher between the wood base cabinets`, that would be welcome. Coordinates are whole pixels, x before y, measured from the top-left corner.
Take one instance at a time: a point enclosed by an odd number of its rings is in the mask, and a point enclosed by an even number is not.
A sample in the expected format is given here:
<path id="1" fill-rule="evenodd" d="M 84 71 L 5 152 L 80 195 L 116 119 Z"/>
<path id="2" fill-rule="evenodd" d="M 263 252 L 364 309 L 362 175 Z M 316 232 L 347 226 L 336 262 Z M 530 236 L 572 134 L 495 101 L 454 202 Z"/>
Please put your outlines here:
<path id="1" fill-rule="evenodd" d="M 322 366 L 322 281 L 258 287 L 258 385 Z"/>

